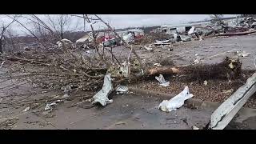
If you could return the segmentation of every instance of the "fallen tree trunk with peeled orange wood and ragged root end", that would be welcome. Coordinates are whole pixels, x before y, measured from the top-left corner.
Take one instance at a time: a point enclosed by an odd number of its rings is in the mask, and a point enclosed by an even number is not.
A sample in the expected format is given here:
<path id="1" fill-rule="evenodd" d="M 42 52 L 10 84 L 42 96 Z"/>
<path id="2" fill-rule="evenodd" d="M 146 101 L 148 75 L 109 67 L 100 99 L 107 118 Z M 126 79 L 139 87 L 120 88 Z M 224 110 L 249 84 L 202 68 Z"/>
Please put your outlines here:
<path id="1" fill-rule="evenodd" d="M 180 67 L 155 67 L 148 71 L 149 75 L 156 74 L 182 74 L 187 80 L 204 81 L 212 78 L 238 78 L 241 74 L 242 63 L 226 57 L 223 62 L 217 64 L 198 64 Z"/>

